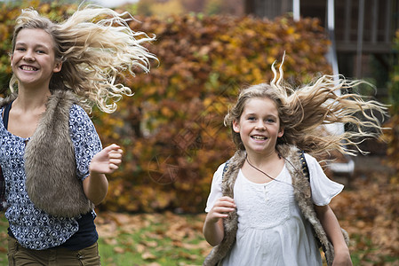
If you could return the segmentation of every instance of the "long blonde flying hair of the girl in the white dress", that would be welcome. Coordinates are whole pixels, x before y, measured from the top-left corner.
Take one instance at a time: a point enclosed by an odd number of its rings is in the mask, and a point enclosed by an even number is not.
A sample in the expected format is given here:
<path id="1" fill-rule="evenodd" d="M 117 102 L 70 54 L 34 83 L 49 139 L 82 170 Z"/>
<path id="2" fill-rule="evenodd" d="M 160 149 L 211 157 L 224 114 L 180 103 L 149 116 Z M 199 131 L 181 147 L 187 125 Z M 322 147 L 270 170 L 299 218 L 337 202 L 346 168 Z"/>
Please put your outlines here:
<path id="1" fill-rule="evenodd" d="M 313 155 L 332 150 L 355 155 L 365 153 L 359 147 L 365 138 L 378 137 L 382 133 L 380 120 L 387 114 L 387 106 L 365 100 L 355 93 L 335 93 L 338 90 L 348 92 L 367 82 L 348 81 L 341 75 L 323 75 L 315 82 L 293 90 L 283 81 L 282 66 L 283 62 L 277 74 L 273 64 L 272 82 L 252 85 L 241 91 L 235 106 L 225 117 L 225 125 L 232 129 L 233 121 L 240 121 L 243 108 L 251 98 L 270 98 L 275 102 L 284 129 L 283 137 L 277 139 L 277 150 L 279 144 L 290 144 Z M 321 129 L 323 125 L 337 122 L 352 127 L 338 135 Z M 232 130 L 232 134 L 237 148 L 244 150 L 239 133 Z"/>

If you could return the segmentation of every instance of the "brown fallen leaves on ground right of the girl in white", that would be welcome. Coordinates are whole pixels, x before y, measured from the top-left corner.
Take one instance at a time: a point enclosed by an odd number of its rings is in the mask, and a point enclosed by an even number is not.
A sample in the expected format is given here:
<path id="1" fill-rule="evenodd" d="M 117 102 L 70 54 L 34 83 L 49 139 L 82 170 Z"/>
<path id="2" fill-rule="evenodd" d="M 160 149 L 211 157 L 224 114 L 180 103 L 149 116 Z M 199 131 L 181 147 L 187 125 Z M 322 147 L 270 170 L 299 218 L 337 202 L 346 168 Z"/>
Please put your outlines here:
<path id="1" fill-rule="evenodd" d="M 351 237 L 349 248 L 359 255 L 359 265 L 396 265 L 385 260 L 399 255 L 399 184 L 390 184 L 389 168 L 374 169 L 379 160 L 357 163 L 362 171 L 355 171 L 351 188 L 334 198 L 331 207 Z"/>

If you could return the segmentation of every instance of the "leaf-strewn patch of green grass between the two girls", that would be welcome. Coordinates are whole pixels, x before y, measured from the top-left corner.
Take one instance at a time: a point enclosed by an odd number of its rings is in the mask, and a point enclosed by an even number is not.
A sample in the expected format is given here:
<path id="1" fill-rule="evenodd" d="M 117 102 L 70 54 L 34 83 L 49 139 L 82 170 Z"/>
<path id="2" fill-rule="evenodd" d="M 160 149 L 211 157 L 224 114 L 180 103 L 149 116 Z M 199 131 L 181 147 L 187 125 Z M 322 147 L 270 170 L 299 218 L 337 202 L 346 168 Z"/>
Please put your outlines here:
<path id="1" fill-rule="evenodd" d="M 95 220 L 100 241 L 112 245 L 112 257 L 121 254 L 137 265 L 200 264 L 211 246 L 203 239 L 204 215 L 125 215 L 99 213 Z M 110 262 L 100 244 L 101 257 Z M 131 260 L 132 262 L 132 260 Z M 189 263 L 191 262 L 191 263 Z M 188 263 L 188 264 L 187 264 Z M 122 265 L 122 264 L 117 264 Z"/>

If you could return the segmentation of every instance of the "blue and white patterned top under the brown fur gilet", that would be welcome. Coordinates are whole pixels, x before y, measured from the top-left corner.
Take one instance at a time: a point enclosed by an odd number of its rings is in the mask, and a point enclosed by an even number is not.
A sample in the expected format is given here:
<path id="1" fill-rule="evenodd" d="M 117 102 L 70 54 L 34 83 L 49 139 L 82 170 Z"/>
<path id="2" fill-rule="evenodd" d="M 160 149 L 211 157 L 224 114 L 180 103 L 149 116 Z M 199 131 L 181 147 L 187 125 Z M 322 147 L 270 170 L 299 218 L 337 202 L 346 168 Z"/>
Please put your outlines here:
<path id="1" fill-rule="evenodd" d="M 4 107 L 0 109 L 3 113 Z M 0 119 L 3 120 L 2 115 Z M 69 112 L 69 130 L 76 155 L 76 174 L 84 180 L 89 175 L 89 163 L 102 149 L 100 137 L 87 113 L 73 105 Z M 76 218 L 55 217 L 34 206 L 25 188 L 24 152 L 28 138 L 12 135 L 0 122 L 0 165 L 5 180 L 8 208 L 5 217 L 15 239 L 21 246 L 42 250 L 60 246 L 79 226 Z M 62 153 L 62 151 L 60 151 Z M 92 215 L 94 211 L 92 211 Z"/>

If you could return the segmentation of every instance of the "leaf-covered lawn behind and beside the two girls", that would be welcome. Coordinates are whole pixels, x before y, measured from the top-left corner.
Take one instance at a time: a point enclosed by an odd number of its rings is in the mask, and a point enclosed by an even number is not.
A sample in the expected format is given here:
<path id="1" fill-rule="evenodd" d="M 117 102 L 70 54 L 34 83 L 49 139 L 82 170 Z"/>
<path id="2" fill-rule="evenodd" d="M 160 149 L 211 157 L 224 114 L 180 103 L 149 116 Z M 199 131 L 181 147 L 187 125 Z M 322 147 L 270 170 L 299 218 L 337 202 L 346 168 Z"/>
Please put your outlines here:
<path id="1" fill-rule="evenodd" d="M 362 170 L 331 202 L 350 235 L 353 263 L 399 266 L 399 177 L 378 168 L 379 160 L 357 165 Z M 102 265 L 202 265 L 211 250 L 203 239 L 203 219 L 203 214 L 98 212 Z M 6 231 L 0 214 L 0 265 L 7 265 Z"/>

